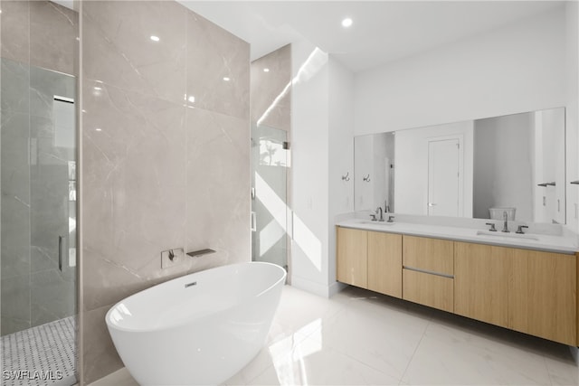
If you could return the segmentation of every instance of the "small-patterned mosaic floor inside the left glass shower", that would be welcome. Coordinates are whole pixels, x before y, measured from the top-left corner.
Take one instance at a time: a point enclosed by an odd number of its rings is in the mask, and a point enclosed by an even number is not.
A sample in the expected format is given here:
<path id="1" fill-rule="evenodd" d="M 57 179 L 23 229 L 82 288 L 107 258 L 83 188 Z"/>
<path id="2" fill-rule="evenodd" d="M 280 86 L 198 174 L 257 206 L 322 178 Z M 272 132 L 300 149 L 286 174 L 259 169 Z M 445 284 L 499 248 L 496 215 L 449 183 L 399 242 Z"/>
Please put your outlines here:
<path id="1" fill-rule="evenodd" d="M 74 330 L 69 316 L 2 336 L 2 386 L 76 383 Z"/>

